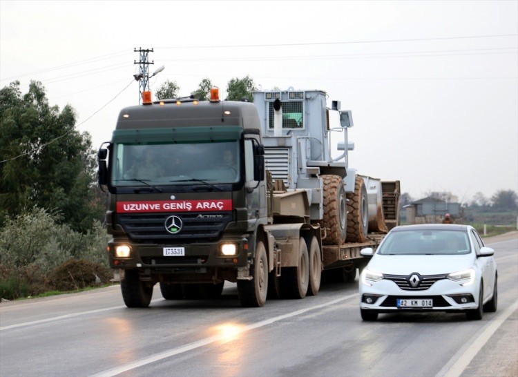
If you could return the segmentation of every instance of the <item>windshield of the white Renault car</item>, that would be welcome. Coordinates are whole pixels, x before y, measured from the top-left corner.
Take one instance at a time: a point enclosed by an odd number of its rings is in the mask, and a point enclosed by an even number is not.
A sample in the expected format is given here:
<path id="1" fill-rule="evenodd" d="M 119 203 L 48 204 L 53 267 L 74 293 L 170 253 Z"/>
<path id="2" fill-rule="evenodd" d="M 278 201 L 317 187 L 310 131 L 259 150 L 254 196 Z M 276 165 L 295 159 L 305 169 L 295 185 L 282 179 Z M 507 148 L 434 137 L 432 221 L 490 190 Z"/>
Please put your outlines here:
<path id="1" fill-rule="evenodd" d="M 395 231 L 387 235 L 377 253 L 381 255 L 468 254 L 470 242 L 468 234 L 463 231 Z"/>

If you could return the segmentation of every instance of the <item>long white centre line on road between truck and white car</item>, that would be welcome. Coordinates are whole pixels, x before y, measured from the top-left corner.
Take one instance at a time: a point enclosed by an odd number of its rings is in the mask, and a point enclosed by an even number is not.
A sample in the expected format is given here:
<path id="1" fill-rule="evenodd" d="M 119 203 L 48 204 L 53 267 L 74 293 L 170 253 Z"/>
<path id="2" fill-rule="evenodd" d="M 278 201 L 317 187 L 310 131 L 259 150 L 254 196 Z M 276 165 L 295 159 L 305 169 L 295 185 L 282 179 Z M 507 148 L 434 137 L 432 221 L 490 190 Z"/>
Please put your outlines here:
<path id="1" fill-rule="evenodd" d="M 236 332 L 237 334 L 242 334 L 244 332 L 258 329 L 259 327 L 264 327 L 267 325 L 271 325 L 274 322 L 278 322 L 280 320 L 285 320 L 286 318 L 291 318 L 295 316 L 299 316 L 300 314 L 306 313 L 307 311 L 315 310 L 315 309 L 321 309 L 323 307 L 329 307 L 331 305 L 335 305 L 338 302 L 349 300 L 350 298 L 358 297 L 358 293 L 351 294 L 349 296 L 345 296 L 343 298 L 338 298 L 336 300 L 332 300 L 329 302 L 326 302 L 325 304 L 315 305 L 313 307 L 309 307 L 306 309 L 300 309 L 297 311 L 292 311 L 291 313 L 283 314 L 282 316 L 276 316 L 273 318 L 269 318 L 267 320 L 262 320 L 260 322 L 253 323 L 248 326 L 242 327 L 242 329 L 238 330 Z M 138 367 L 143 367 L 144 365 L 148 365 L 151 363 L 155 363 L 155 361 L 162 360 L 164 358 L 170 358 L 171 356 L 175 356 L 178 354 L 182 354 L 186 351 L 191 351 L 191 349 L 200 348 L 206 345 L 209 345 L 214 342 L 227 342 L 229 341 L 227 338 L 225 338 L 224 335 L 218 335 L 218 336 L 209 336 L 209 338 L 204 338 L 201 340 L 198 340 L 197 342 L 190 343 L 188 345 L 184 345 L 183 347 L 173 348 L 169 349 L 168 351 L 160 352 L 159 354 L 151 355 L 146 358 L 142 358 L 140 360 L 134 361 L 133 363 L 128 363 L 126 365 L 121 365 L 119 367 L 115 367 L 112 369 L 108 369 L 106 371 L 101 371 L 97 374 L 94 374 L 92 377 L 111 377 L 111 376 L 117 376 L 117 374 L 124 373 L 125 371 L 130 371 L 131 369 L 136 369 Z"/>

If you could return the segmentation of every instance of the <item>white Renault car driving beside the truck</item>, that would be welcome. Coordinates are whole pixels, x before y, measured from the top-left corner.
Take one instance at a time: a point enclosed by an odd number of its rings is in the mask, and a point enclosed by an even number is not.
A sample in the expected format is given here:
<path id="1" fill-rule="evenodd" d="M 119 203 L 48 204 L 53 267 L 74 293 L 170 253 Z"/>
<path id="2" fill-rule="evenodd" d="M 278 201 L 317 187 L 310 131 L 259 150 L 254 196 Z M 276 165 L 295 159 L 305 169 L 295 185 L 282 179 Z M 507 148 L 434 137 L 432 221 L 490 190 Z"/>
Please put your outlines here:
<path id="1" fill-rule="evenodd" d="M 469 320 L 480 320 L 483 311 L 497 311 L 494 254 L 472 226 L 396 226 L 375 253 L 372 248 L 361 250 L 361 255 L 372 256 L 361 272 L 361 318 L 463 311 Z"/>

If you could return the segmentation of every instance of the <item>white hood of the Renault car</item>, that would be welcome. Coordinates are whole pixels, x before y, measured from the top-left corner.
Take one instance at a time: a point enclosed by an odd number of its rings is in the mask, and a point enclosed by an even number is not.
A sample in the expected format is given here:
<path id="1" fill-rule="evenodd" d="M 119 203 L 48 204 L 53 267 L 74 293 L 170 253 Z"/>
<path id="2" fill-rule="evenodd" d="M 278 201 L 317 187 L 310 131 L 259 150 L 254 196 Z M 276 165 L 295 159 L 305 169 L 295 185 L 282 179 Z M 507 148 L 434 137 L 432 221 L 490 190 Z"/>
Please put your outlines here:
<path id="1" fill-rule="evenodd" d="M 375 254 L 367 269 L 390 275 L 439 275 L 472 267 L 474 255 L 378 255 Z"/>

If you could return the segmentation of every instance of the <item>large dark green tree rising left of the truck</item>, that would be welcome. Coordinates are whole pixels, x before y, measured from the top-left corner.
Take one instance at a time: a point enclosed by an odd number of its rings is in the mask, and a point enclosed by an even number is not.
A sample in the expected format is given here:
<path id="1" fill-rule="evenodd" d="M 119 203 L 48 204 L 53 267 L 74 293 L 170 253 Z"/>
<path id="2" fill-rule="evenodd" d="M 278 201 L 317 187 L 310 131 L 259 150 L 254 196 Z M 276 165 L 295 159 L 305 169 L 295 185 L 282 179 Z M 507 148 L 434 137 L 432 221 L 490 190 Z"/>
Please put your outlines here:
<path id="1" fill-rule="evenodd" d="M 45 88 L 19 81 L 0 90 L 0 226 L 7 216 L 38 206 L 86 232 L 102 218 L 95 192 L 95 151 L 75 130 L 74 109 L 49 106 Z"/>

